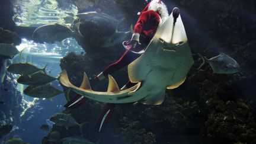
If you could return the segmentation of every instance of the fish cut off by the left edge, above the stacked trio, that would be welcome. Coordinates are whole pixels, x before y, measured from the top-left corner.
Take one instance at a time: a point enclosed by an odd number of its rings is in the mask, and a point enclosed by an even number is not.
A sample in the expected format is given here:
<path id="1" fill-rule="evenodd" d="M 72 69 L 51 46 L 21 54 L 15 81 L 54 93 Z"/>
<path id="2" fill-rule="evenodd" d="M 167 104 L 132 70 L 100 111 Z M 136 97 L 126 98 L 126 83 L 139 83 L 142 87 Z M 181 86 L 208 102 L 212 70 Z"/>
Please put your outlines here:
<path id="1" fill-rule="evenodd" d="M 0 43 L 0 55 L 14 57 L 20 53 L 14 44 Z"/>

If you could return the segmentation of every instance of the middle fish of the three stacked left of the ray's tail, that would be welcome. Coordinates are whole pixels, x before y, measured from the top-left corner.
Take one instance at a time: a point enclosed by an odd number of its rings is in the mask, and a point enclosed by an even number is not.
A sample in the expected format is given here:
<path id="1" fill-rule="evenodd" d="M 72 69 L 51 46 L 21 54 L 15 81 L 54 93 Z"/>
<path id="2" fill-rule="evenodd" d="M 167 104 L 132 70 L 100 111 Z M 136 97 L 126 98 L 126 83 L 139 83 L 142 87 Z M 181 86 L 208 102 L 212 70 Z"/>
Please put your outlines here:
<path id="1" fill-rule="evenodd" d="M 17 82 L 24 85 L 44 85 L 56 79 L 46 75 L 43 71 L 39 71 L 31 75 L 22 75 L 17 79 Z"/>

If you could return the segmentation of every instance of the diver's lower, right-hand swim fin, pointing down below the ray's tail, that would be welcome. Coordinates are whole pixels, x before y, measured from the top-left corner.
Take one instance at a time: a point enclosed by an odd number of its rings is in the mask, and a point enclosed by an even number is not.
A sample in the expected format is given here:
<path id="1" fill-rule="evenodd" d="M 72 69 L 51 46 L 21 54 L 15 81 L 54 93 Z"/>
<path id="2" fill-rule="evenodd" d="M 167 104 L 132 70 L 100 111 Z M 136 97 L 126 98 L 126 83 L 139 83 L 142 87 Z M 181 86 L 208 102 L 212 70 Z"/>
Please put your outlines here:
<path id="1" fill-rule="evenodd" d="M 104 107 L 104 110 L 101 112 L 100 117 L 98 117 L 98 120 L 95 124 L 95 130 L 98 133 L 103 132 L 105 129 L 105 126 L 107 126 L 108 121 L 110 120 L 113 112 L 114 112 L 114 107 L 116 104 L 106 104 Z"/>

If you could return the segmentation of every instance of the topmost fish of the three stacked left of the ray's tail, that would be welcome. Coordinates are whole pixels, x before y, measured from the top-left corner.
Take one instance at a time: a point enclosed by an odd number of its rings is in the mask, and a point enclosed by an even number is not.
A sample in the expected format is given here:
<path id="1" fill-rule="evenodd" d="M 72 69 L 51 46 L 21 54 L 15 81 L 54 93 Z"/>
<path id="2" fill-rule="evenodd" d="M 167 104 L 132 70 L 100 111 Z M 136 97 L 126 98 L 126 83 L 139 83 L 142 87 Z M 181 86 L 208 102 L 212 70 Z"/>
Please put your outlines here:
<path id="1" fill-rule="evenodd" d="M 30 63 L 12 63 L 12 65 L 7 68 L 7 71 L 20 75 L 30 75 L 38 71 L 45 72 L 46 66 L 44 66 L 43 69 L 40 69 Z"/>

